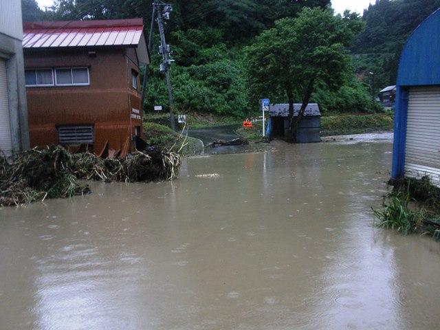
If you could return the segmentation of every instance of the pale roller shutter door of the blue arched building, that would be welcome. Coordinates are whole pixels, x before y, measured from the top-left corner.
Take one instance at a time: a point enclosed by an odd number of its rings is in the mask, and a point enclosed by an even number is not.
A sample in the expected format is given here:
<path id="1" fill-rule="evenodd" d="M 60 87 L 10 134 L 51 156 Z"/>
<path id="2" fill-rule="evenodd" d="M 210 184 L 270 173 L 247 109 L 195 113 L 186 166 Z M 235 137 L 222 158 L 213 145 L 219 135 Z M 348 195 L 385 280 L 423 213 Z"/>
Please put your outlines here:
<path id="1" fill-rule="evenodd" d="M 409 91 L 405 173 L 440 186 L 440 87 Z"/>

